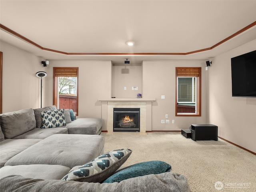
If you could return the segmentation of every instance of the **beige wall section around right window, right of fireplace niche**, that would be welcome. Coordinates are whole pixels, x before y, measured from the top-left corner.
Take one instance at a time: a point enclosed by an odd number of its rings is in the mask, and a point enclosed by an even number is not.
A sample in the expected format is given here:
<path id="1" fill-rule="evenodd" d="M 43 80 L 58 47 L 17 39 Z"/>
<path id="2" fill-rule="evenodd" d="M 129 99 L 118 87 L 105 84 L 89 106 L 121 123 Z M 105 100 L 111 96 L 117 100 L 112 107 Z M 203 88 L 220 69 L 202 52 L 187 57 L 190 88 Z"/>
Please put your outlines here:
<path id="1" fill-rule="evenodd" d="M 202 67 L 202 116 L 175 116 L 175 68 Z M 172 60 L 143 62 L 143 96 L 155 98 L 152 103 L 152 130 L 189 129 L 191 124 L 206 123 L 206 82 L 205 62 L 201 60 Z M 165 99 L 161 99 L 161 95 Z M 168 118 L 165 118 L 168 114 Z M 161 120 L 169 119 L 170 124 L 161 124 Z M 174 124 L 172 124 L 174 120 Z"/>

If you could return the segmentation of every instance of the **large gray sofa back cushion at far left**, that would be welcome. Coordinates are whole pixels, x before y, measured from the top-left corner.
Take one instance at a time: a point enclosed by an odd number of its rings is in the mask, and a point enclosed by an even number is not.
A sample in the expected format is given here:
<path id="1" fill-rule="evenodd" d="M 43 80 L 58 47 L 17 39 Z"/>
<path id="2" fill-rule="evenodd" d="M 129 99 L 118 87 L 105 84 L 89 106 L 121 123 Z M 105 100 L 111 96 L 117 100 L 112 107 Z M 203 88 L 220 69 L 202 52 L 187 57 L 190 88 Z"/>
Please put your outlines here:
<path id="1" fill-rule="evenodd" d="M 4 136 L 11 139 L 36 128 L 33 109 L 22 109 L 0 115 Z"/>

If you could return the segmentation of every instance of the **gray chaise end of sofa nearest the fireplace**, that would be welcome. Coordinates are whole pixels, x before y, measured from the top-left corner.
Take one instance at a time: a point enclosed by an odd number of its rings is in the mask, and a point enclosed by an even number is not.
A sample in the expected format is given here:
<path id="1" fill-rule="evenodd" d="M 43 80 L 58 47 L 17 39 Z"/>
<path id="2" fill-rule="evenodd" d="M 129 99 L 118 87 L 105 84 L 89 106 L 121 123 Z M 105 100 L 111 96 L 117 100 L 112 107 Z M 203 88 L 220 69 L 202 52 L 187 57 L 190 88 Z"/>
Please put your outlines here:
<path id="1" fill-rule="evenodd" d="M 100 118 L 77 118 L 65 127 L 68 128 L 68 134 L 99 135 L 102 124 L 103 120 Z"/>

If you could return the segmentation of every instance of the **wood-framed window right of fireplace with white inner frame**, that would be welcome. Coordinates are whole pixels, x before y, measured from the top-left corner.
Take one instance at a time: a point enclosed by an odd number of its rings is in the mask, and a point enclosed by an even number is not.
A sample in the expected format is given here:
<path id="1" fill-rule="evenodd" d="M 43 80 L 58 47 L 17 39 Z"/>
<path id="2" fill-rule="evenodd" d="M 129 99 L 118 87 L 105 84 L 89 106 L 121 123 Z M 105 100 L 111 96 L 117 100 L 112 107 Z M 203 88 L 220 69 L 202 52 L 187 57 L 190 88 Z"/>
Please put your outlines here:
<path id="1" fill-rule="evenodd" d="M 176 116 L 201 116 L 201 68 L 176 67 Z"/>

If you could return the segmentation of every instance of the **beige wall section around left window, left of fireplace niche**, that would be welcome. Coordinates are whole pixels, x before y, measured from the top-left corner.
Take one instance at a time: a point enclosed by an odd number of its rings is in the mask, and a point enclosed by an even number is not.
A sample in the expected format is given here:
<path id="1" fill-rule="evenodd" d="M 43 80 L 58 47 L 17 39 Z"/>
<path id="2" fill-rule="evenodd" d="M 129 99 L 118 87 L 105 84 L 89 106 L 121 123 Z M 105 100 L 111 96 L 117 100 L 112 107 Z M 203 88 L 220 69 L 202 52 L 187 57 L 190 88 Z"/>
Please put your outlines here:
<path id="1" fill-rule="evenodd" d="M 50 60 L 48 86 L 53 84 L 53 67 L 79 68 L 79 117 L 101 118 L 102 95 L 111 97 L 111 62 L 110 61 L 55 61 Z M 52 102 L 52 89 L 47 95 L 49 103 Z"/>

